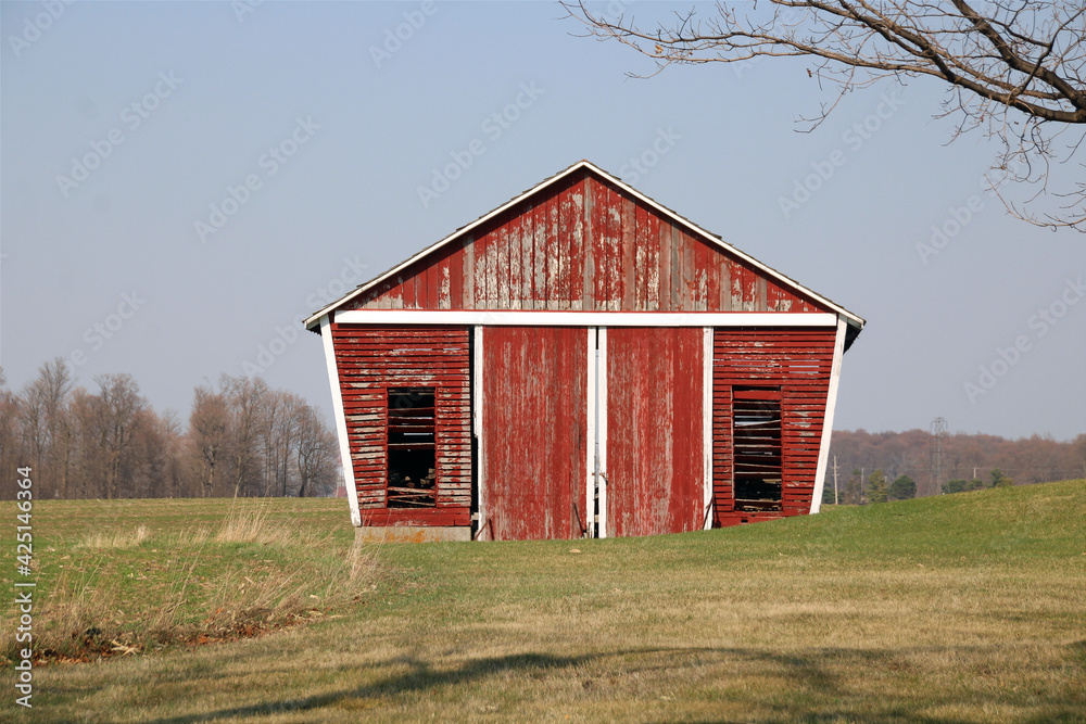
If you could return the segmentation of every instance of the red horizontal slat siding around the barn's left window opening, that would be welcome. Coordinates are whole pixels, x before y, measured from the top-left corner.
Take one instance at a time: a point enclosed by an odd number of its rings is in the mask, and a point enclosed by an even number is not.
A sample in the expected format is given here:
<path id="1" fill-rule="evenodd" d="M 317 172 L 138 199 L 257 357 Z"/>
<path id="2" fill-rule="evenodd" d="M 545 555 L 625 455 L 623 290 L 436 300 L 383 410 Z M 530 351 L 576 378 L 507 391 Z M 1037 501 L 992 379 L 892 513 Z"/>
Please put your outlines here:
<path id="1" fill-rule="evenodd" d="M 468 329 L 333 323 L 331 330 L 363 525 L 470 525 Z M 433 508 L 387 507 L 388 389 L 403 386 L 435 388 Z"/>

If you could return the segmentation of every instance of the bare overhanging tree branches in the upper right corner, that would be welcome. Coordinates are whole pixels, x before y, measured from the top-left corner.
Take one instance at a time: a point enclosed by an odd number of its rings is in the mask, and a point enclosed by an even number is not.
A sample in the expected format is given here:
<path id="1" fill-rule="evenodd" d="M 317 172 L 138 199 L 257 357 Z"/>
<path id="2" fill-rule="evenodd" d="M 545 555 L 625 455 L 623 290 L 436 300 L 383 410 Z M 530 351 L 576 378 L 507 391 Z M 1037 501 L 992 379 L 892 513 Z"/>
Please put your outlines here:
<path id="1" fill-rule="evenodd" d="M 690 10 L 649 26 L 594 13 L 583 0 L 563 4 L 590 36 L 654 59 L 657 69 L 647 75 L 677 63 L 808 60 L 807 75 L 834 87 L 836 98 L 803 119 L 810 122 L 805 130 L 849 91 L 887 77 L 934 78 L 947 91 L 935 115 L 955 118 L 952 138 L 981 129 L 1000 142 L 988 178 L 996 193 L 1007 180 L 1034 185 L 1021 202 L 1000 195 L 1008 211 L 1037 226 L 1086 232 L 1086 174 L 1074 160 L 1084 131 L 1072 130 L 1086 127 L 1082 0 L 718 2 L 711 16 Z M 629 3 L 607 8 L 616 4 Z M 1064 163 L 1073 167 L 1070 181 L 1052 174 Z"/>

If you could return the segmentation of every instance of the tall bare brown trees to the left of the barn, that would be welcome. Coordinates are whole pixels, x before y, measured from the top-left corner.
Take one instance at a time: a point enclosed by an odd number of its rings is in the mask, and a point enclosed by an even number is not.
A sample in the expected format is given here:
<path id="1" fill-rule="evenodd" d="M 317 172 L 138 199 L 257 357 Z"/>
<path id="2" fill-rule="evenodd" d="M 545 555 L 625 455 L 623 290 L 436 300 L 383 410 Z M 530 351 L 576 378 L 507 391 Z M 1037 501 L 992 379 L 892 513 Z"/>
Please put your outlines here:
<path id="1" fill-rule="evenodd" d="M 0 470 L 31 467 L 35 497 L 324 496 L 340 484 L 320 414 L 260 378 L 198 386 L 184 429 L 130 374 L 93 381 L 76 385 L 58 358 L 14 392 L 0 369 Z"/>

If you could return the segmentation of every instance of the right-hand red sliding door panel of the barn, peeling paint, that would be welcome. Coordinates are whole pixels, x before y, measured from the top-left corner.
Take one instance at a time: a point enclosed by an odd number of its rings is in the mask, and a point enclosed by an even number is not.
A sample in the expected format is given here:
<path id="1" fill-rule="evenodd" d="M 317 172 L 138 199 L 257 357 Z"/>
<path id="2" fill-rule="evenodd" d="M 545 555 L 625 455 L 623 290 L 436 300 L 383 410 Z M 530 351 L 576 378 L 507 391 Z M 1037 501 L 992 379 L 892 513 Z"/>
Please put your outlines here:
<path id="1" fill-rule="evenodd" d="M 703 332 L 607 330 L 607 535 L 705 523 Z"/>

